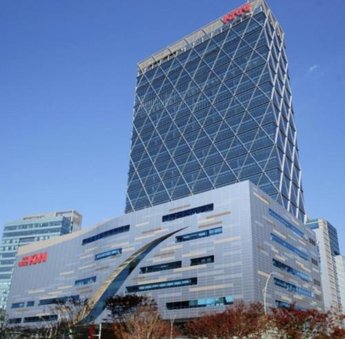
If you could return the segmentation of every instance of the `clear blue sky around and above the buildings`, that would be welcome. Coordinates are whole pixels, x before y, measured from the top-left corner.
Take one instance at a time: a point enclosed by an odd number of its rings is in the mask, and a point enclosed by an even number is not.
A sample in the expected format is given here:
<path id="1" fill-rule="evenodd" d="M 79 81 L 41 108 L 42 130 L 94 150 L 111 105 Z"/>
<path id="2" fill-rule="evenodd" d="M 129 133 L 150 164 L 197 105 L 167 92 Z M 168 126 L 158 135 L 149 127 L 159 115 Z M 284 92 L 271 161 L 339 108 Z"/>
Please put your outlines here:
<path id="1" fill-rule="evenodd" d="M 1 1 L 1 227 L 122 214 L 137 62 L 243 1 Z M 306 209 L 345 252 L 345 1 L 268 4 L 286 32 Z"/>

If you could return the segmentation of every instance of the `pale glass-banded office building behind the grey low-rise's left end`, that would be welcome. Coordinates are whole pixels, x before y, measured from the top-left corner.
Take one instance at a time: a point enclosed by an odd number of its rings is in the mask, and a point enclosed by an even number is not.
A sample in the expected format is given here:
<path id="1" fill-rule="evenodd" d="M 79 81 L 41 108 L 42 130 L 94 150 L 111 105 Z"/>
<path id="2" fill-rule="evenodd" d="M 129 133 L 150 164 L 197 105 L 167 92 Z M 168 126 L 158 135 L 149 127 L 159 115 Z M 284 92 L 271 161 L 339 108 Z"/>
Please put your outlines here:
<path id="1" fill-rule="evenodd" d="M 79 231 L 82 218 L 79 212 L 68 210 L 26 215 L 5 223 L 0 244 L 0 309 L 6 309 L 19 246 Z"/>

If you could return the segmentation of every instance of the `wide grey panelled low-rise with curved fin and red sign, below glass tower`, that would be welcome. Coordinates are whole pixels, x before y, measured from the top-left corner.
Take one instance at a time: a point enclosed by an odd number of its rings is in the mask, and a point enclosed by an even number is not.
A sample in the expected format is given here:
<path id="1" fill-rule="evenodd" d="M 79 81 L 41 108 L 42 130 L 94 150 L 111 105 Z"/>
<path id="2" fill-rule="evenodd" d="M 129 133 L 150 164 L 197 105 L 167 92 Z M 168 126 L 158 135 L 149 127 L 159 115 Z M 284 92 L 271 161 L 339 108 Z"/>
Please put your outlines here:
<path id="1" fill-rule="evenodd" d="M 63 317 L 57 302 L 86 298 L 75 321 L 102 322 L 106 299 L 126 293 L 150 296 L 163 319 L 176 321 L 239 300 L 321 311 L 317 263 L 315 233 L 239 182 L 22 246 L 6 316 L 35 327 Z"/>

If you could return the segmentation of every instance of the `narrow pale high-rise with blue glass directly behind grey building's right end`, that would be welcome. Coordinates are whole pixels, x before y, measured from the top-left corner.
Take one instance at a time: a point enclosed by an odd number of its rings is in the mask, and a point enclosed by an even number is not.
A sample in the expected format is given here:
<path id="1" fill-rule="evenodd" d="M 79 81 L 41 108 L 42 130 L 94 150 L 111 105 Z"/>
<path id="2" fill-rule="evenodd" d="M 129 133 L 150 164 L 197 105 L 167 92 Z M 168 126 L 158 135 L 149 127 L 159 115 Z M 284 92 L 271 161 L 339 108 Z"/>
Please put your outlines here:
<path id="1" fill-rule="evenodd" d="M 309 220 L 306 224 L 315 231 L 317 239 L 324 307 L 326 311 L 339 313 L 341 305 L 335 267 L 335 257 L 340 254 L 337 229 L 322 217 Z"/>

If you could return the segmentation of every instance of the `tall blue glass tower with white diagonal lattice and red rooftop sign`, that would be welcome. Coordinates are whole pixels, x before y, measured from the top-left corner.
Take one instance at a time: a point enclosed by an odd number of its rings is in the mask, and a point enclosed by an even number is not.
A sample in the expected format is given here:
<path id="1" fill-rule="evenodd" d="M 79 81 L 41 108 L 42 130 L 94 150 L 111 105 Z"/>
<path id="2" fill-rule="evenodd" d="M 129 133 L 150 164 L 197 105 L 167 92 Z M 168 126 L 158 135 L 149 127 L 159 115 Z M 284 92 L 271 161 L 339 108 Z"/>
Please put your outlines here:
<path id="1" fill-rule="evenodd" d="M 304 220 L 284 32 L 263 0 L 139 63 L 126 212 L 243 180 Z"/>

